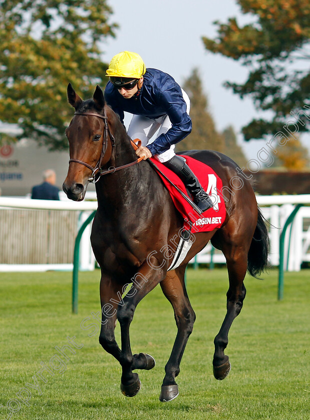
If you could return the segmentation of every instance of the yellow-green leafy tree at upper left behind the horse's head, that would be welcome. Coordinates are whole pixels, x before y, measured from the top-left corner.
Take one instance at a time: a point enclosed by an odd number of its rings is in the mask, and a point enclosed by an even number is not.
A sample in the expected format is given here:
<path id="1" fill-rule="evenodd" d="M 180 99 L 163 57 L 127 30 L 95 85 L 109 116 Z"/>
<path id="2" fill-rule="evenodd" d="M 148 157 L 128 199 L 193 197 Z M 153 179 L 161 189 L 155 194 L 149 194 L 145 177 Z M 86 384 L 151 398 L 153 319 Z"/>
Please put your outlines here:
<path id="1" fill-rule="evenodd" d="M 51 149 L 67 147 L 69 82 L 105 84 L 98 41 L 114 36 L 106 0 L 0 0 L 0 118 Z"/>

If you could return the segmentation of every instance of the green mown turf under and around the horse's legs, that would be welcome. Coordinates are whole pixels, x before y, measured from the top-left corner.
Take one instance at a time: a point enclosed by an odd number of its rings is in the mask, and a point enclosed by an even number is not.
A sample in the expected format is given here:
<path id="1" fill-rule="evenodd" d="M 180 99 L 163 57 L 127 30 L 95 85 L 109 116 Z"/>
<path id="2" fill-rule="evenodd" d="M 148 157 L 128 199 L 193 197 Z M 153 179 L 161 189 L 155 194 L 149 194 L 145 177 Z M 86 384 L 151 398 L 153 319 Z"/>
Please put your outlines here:
<path id="1" fill-rule="evenodd" d="M 227 271 L 189 269 L 188 294 L 197 319 L 177 378 L 180 395 L 169 403 L 158 397 L 176 327 L 159 286 L 138 305 L 131 326 L 133 351 L 152 354 L 156 366 L 139 371 L 142 388 L 136 397 L 126 398 L 120 392 L 120 366 L 99 345 L 98 322 L 91 314 L 100 310 L 99 270 L 80 273 L 78 315 L 71 314 L 70 272 L 0 273 L 0 418 L 10 418 L 15 410 L 12 418 L 29 420 L 306 420 L 309 273 L 285 273 L 281 302 L 276 300 L 276 270 L 264 280 L 246 277 L 247 295 L 226 350 L 232 369 L 217 381 L 211 364 L 213 339 L 225 314 Z M 82 329 L 83 320 L 84 328 L 92 322 L 95 326 Z M 55 349 L 69 344 L 67 336 L 80 347 L 70 344 L 76 351 L 66 352 L 70 360 Z M 33 376 L 44 366 L 41 362 L 54 375 L 42 370 L 46 382 L 37 376 L 36 385 Z M 26 383 L 37 388 L 28 385 L 27 393 Z"/>

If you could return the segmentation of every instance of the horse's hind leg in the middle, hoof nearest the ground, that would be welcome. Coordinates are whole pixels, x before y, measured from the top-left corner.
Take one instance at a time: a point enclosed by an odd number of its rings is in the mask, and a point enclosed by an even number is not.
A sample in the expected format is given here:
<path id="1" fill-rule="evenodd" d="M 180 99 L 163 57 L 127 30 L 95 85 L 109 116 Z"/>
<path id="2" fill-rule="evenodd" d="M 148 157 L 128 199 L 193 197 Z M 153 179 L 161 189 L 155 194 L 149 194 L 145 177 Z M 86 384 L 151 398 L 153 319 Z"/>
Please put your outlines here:
<path id="1" fill-rule="evenodd" d="M 195 321 L 195 312 L 191 307 L 185 289 L 184 272 L 185 267 L 169 271 L 166 278 L 160 283 L 165 296 L 173 306 L 174 316 L 178 327 L 172 352 L 165 366 L 166 375 L 163 380 L 159 397 L 163 402 L 170 401 L 179 394 L 175 377 L 180 372 L 181 358 Z"/>

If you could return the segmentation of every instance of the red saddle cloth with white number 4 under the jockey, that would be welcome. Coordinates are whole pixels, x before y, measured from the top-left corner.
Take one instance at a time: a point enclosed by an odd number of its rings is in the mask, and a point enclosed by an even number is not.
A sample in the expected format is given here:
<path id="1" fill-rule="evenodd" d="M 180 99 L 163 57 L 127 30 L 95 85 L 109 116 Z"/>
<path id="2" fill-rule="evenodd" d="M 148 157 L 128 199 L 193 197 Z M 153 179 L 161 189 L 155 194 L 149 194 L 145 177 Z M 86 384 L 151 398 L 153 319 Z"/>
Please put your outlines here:
<path id="1" fill-rule="evenodd" d="M 172 182 L 169 182 L 159 171 L 157 171 L 166 188 L 170 192 L 174 205 L 184 217 L 185 224 L 189 221 L 192 223 L 193 232 L 206 232 L 213 230 L 216 227 L 220 227 L 224 222 L 226 215 L 223 196 L 220 196 L 217 192 L 222 190 L 221 179 L 210 166 L 190 156 L 184 155 L 183 157 L 186 159 L 186 163 L 199 179 L 203 189 L 209 194 L 211 200 L 213 201 L 213 208 L 209 208 L 202 214 L 199 214 L 172 185 L 172 183 L 176 185 L 188 196 L 184 183 L 181 179 L 172 170 L 168 169 L 154 157 L 151 157 L 150 160 L 152 160 L 158 169 L 160 169 Z M 189 198 L 192 199 L 191 197 Z"/>

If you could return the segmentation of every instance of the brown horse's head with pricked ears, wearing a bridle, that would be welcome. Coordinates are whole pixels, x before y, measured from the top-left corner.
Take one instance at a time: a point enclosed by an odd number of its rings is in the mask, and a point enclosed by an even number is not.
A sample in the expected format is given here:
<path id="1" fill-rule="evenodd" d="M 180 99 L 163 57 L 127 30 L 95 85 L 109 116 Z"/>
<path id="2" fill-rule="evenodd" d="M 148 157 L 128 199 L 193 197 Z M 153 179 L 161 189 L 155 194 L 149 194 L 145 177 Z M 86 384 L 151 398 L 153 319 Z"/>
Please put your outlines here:
<path id="1" fill-rule="evenodd" d="M 88 183 L 111 157 L 112 143 L 107 125 L 103 91 L 96 87 L 93 99 L 82 100 L 71 83 L 68 100 L 75 115 L 66 135 L 69 140 L 69 170 L 63 190 L 68 198 L 83 200 Z"/>

